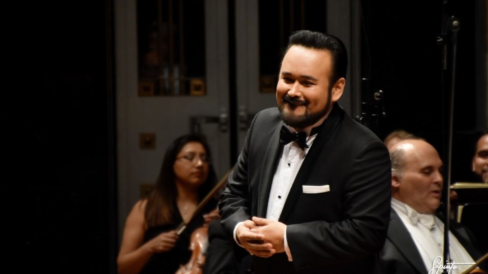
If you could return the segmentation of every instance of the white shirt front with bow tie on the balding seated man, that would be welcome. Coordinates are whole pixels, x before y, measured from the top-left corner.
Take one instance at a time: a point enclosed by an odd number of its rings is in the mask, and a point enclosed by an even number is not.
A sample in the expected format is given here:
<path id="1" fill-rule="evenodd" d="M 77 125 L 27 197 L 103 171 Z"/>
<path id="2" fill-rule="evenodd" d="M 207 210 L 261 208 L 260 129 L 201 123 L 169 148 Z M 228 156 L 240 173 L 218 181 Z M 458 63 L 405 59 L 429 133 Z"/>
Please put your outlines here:
<path id="1" fill-rule="evenodd" d="M 391 199 L 391 207 L 410 232 L 425 264 L 426 273 L 442 273 L 442 265 L 445 263 L 442 259 L 444 254 L 444 223 L 434 214 L 420 214 L 409 205 L 394 198 Z M 449 244 L 449 254 L 453 263 L 450 273 L 461 273 L 462 270 L 474 263 L 473 258 L 450 231 Z M 439 268 L 439 266 L 441 267 Z"/>

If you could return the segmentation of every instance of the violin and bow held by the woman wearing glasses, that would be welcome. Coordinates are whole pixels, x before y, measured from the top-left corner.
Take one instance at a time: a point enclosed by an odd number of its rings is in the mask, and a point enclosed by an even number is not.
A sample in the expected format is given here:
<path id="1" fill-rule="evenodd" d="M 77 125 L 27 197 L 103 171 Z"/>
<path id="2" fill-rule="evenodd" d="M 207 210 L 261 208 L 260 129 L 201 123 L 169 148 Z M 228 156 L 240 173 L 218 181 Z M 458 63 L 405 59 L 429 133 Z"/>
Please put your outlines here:
<path id="1" fill-rule="evenodd" d="M 203 200 L 198 204 L 197 209 L 193 213 L 192 217 L 188 220 L 190 223 L 200 211 L 205 207 L 214 196 L 215 194 L 225 185 L 227 179 L 232 172 L 231 168 L 227 174 L 217 183 L 217 185 L 203 198 Z M 176 234 L 180 235 L 185 229 L 187 228 L 187 224 L 185 222 L 181 222 L 181 224 L 176 228 Z M 192 251 L 192 256 L 190 260 L 185 265 L 180 265 L 179 269 L 176 271 L 175 274 L 202 274 L 203 270 L 202 267 L 205 264 L 206 259 L 206 250 L 208 247 L 208 227 L 207 224 L 195 229 L 190 236 L 190 251 Z"/>

